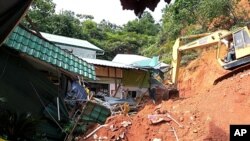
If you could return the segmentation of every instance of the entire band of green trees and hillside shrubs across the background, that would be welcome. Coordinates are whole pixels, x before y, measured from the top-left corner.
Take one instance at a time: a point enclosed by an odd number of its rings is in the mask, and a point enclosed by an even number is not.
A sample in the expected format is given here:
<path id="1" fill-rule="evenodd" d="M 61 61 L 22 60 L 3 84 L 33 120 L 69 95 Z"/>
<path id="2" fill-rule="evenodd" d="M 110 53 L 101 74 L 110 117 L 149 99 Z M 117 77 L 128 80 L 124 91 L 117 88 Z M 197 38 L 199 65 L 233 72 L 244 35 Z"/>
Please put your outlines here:
<path id="1" fill-rule="evenodd" d="M 239 3 L 239 0 L 176 0 L 163 10 L 161 23 L 145 12 L 140 19 L 123 26 L 107 20 L 96 23 L 93 16 L 72 11 L 55 13 L 52 0 L 35 0 L 28 15 L 39 31 L 85 39 L 99 46 L 106 52 L 102 59 L 133 53 L 160 55 L 161 60 L 170 63 L 176 38 L 244 26 L 249 21 L 249 11 Z M 23 23 L 31 28 L 28 22 Z"/>

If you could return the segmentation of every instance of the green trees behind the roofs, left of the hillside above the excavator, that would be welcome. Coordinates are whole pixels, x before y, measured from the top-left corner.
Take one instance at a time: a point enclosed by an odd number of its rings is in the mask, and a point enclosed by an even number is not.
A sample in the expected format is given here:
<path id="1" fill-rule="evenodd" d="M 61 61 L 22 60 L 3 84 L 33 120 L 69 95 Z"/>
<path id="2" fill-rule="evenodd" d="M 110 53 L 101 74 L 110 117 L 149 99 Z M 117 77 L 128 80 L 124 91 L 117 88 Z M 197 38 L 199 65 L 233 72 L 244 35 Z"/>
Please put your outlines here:
<path id="1" fill-rule="evenodd" d="M 52 0 L 35 0 L 28 15 L 39 31 L 88 40 L 104 49 L 105 55 L 100 58 L 108 60 L 118 53 L 141 54 L 144 48 L 155 43 L 160 30 L 149 12 L 121 27 L 106 20 L 96 23 L 93 16 L 72 11 L 57 14 Z M 32 28 L 27 21 L 23 24 Z"/>

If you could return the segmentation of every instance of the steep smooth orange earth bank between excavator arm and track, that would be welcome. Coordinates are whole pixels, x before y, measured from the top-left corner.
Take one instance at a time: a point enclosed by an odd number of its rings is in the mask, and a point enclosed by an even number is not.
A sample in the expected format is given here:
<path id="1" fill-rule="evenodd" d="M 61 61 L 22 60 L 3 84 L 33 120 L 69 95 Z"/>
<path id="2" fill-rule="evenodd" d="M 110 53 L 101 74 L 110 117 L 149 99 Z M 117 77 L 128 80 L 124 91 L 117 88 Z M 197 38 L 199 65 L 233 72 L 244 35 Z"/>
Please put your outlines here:
<path id="1" fill-rule="evenodd" d="M 219 76 L 225 74 L 216 60 L 216 50 L 204 50 L 200 57 L 180 69 L 178 89 L 182 97 L 189 97 L 208 91 Z"/>

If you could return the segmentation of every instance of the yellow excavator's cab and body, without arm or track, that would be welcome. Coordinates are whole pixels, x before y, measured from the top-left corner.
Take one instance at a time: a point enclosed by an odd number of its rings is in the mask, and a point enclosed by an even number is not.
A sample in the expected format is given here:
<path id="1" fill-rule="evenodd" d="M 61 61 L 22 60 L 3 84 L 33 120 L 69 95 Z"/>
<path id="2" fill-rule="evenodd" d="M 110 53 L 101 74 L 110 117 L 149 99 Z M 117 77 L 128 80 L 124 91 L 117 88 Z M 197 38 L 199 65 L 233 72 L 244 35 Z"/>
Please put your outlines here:
<path id="1" fill-rule="evenodd" d="M 228 47 L 224 56 L 233 55 L 230 60 L 225 61 L 226 59 L 222 59 L 221 52 L 223 52 L 223 46 L 219 45 L 217 59 L 224 69 L 232 70 L 250 62 L 250 34 L 247 27 L 243 27 L 221 37 L 221 41 L 222 40 L 227 41 L 226 46 Z"/>

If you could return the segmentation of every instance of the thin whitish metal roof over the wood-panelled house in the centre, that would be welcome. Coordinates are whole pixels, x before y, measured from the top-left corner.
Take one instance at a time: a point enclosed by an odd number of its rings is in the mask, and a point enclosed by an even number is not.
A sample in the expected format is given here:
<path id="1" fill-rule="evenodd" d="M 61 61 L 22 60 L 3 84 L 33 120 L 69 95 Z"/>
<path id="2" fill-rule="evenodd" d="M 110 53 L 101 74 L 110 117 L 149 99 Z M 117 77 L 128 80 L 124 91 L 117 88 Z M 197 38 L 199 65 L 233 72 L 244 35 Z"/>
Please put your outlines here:
<path id="1" fill-rule="evenodd" d="M 136 69 L 132 66 L 116 63 L 108 60 L 101 60 L 101 59 L 89 59 L 89 58 L 82 58 L 83 60 L 87 61 L 90 64 L 100 65 L 100 66 L 108 66 L 108 67 L 115 67 L 115 68 L 126 68 L 126 69 Z"/>

